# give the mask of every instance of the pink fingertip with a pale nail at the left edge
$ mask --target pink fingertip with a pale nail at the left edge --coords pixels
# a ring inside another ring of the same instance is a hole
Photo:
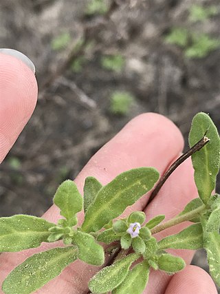
[[[0,49],[0,163],[36,105],[34,65],[21,52]]]

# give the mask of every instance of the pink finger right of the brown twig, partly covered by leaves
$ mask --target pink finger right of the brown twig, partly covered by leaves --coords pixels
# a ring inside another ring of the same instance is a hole
[[[146,208],[145,213],[147,220],[159,214],[165,214],[165,220],[169,220],[180,213],[186,204],[197,196],[193,173],[192,163],[190,158],[188,158],[188,160],[182,163],[173,172],[157,194],[157,197]],[[189,224],[190,222],[181,223],[175,227],[157,233],[155,237],[160,240],[166,235],[178,233]],[[189,250],[170,249],[168,251],[184,258],[187,264],[191,262],[194,254],[194,251]],[[170,278],[170,275],[167,275],[162,271],[152,271],[149,277],[146,293],[164,293],[164,288],[166,288],[166,284]]]

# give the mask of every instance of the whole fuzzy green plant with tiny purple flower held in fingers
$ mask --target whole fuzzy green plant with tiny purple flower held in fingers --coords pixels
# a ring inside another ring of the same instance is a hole
[[[207,114],[199,113],[193,118],[189,144],[190,149],[174,162],[169,174],[192,155],[198,197],[170,220],[164,221],[165,216],[159,215],[146,222],[143,211],[120,218],[126,207],[153,188],[151,197],[155,196],[168,178],[168,173],[159,178],[153,167],[125,171],[104,186],[96,178],[87,177],[83,197],[76,184],[66,180],[54,196],[54,204],[61,213],[56,224],[25,215],[0,218],[1,252],[36,248],[42,242],[63,242],[17,266],[5,278],[3,293],[33,293],[75,260],[103,266],[108,262],[104,261],[107,246],[100,242],[114,242],[111,246],[118,256],[91,278],[88,286],[92,293],[142,294],[151,269],[169,275],[184,269],[184,260],[167,249],[206,249],[210,274],[220,286],[220,196],[212,195],[219,173],[220,139]],[[78,224],[80,211],[85,213],[83,224]],[[186,221],[191,224],[179,233],[161,240],[154,237],[155,233]]]

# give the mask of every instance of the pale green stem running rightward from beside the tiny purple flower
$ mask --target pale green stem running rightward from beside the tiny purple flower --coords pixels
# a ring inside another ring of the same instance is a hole
[[[192,218],[195,218],[199,213],[206,210],[206,205],[202,204],[197,209],[194,209],[188,213],[184,213],[182,216],[176,216],[175,218],[172,218],[171,220],[168,220],[167,222],[164,222],[163,224],[158,224],[156,227],[151,229],[152,235],[155,233],[159,233],[160,231],[164,231],[170,227],[175,226],[176,224],[180,224],[181,222],[186,222],[187,220],[192,220]]]

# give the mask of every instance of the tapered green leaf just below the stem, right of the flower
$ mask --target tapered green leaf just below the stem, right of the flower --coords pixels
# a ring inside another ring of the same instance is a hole
[[[201,249],[203,248],[203,230],[201,224],[192,224],[175,235],[169,235],[158,242],[159,249]]]

